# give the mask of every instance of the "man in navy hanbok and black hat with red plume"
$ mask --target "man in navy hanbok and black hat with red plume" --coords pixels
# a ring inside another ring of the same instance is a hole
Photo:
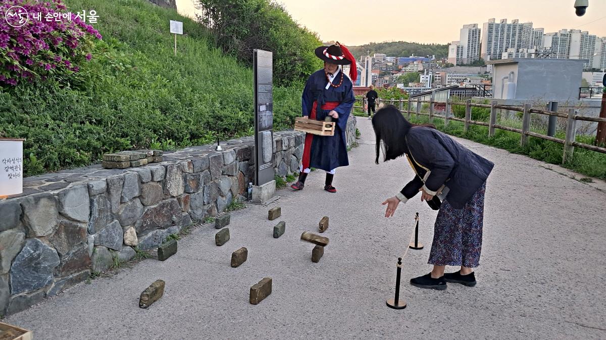
[[[316,56],[324,60],[324,68],[311,74],[302,96],[302,111],[305,119],[324,121],[327,116],[335,122],[334,136],[307,134],[302,164],[299,166],[299,180],[291,185],[302,190],[305,178],[311,168],[326,172],[324,190],[337,192],[333,186],[336,168],[349,165],[345,128],[351,108],[355,102],[353,83],[358,77],[356,59],[347,47],[335,45],[316,48]],[[349,76],[345,76],[339,65],[351,65]],[[351,78],[351,79],[350,79]]]

